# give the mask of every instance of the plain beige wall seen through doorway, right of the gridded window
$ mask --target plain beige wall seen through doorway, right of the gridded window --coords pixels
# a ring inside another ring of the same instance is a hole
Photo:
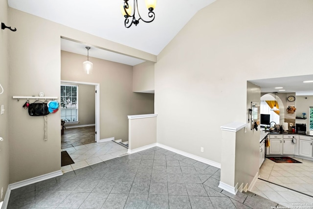
[[[62,63],[62,57],[61,57]],[[62,68],[61,68],[62,71]],[[78,120],[76,125],[89,125],[95,123],[95,86],[86,84],[78,85]],[[70,124],[67,125],[71,126]]]

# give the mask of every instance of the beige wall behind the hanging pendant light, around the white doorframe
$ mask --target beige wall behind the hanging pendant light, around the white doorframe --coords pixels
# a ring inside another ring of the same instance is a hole
[[[132,66],[90,57],[93,72],[86,75],[82,70],[86,56],[62,51],[61,58],[62,80],[100,84],[100,139],[127,141],[127,116],[154,112],[153,94],[132,91]]]

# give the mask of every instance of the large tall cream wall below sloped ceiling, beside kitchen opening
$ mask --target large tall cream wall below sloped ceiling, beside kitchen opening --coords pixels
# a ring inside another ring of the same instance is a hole
[[[312,8],[217,0],[201,9],[157,56],[157,142],[220,163],[220,127],[246,122],[247,80],[312,74]]]

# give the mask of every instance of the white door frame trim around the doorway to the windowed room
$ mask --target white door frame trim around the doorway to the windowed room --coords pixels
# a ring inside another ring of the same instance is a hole
[[[95,142],[100,142],[100,84],[99,83],[89,83],[89,82],[81,82],[81,81],[67,81],[61,80],[61,84],[69,84],[69,85],[89,85],[94,86],[95,96],[95,111],[94,111],[94,129],[95,129]]]

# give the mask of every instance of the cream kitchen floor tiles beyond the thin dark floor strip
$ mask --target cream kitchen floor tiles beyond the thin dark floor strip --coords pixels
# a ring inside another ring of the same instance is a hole
[[[313,161],[292,158],[302,163],[275,163],[266,158],[260,178],[313,196]]]

